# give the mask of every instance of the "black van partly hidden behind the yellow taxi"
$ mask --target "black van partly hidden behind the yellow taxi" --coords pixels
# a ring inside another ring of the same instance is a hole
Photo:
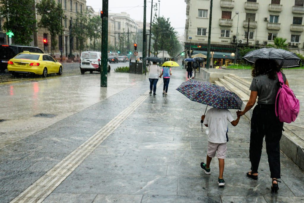
[[[43,54],[43,51],[38,47],[0,45],[0,72],[4,72],[5,69],[7,69],[7,62],[9,59],[14,58],[17,54],[23,51]]]

